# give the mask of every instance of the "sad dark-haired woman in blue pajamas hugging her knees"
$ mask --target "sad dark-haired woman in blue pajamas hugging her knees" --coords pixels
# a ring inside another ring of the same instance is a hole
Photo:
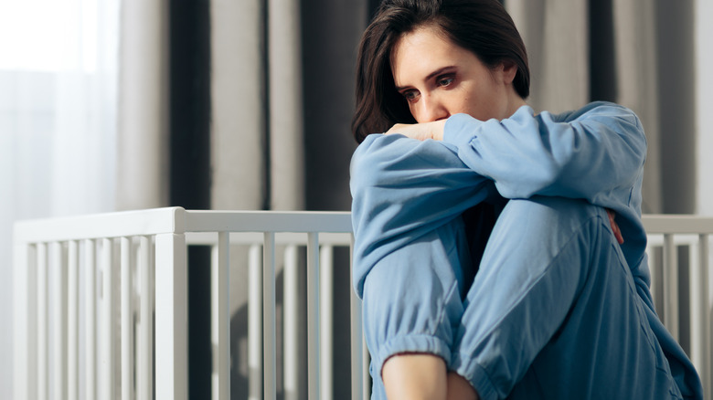
[[[536,114],[528,92],[496,0],[386,0],[367,27],[351,190],[372,398],[701,398],[648,289],[640,121]]]

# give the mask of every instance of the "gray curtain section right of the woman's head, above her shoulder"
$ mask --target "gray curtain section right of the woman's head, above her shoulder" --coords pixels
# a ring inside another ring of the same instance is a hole
[[[693,3],[506,0],[527,46],[536,110],[610,100],[648,141],[644,213],[696,212]]]

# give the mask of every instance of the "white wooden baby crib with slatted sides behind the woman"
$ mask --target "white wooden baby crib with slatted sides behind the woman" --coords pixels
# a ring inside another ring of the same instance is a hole
[[[706,398],[713,399],[708,273],[713,218],[644,216],[644,226],[650,234],[655,303],[666,327],[676,339],[685,339]],[[180,207],[16,224],[15,398],[186,399],[186,249],[208,245],[213,248],[212,394],[229,399],[231,244],[249,247],[249,398],[276,398],[278,248],[284,250],[285,299],[280,384],[285,399],[295,398],[298,344],[290,336],[296,323],[290,316],[296,312],[289,305],[296,301],[289,299],[297,290],[291,271],[298,248],[306,247],[308,396],[331,399],[335,367],[346,367],[332,365],[332,254],[335,247],[351,248],[349,214]],[[692,261],[686,265],[688,285],[679,282],[679,249],[689,249]],[[690,297],[679,296],[679,287],[688,288]],[[360,302],[351,287],[345,290],[351,293],[351,397],[367,399]],[[689,304],[688,318],[679,315],[680,298]]]

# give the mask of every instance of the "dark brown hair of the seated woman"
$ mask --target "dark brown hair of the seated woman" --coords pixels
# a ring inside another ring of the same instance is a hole
[[[391,50],[406,33],[433,24],[486,66],[508,61],[516,65],[513,86],[527,99],[530,70],[527,52],[515,23],[498,0],[384,0],[359,44],[357,111],[352,132],[357,142],[385,132],[395,123],[413,123],[409,105],[396,91],[391,75]]]

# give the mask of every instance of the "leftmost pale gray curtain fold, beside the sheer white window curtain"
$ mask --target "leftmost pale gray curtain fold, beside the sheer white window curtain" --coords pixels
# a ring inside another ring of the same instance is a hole
[[[168,205],[168,4],[122,0],[119,210]]]

